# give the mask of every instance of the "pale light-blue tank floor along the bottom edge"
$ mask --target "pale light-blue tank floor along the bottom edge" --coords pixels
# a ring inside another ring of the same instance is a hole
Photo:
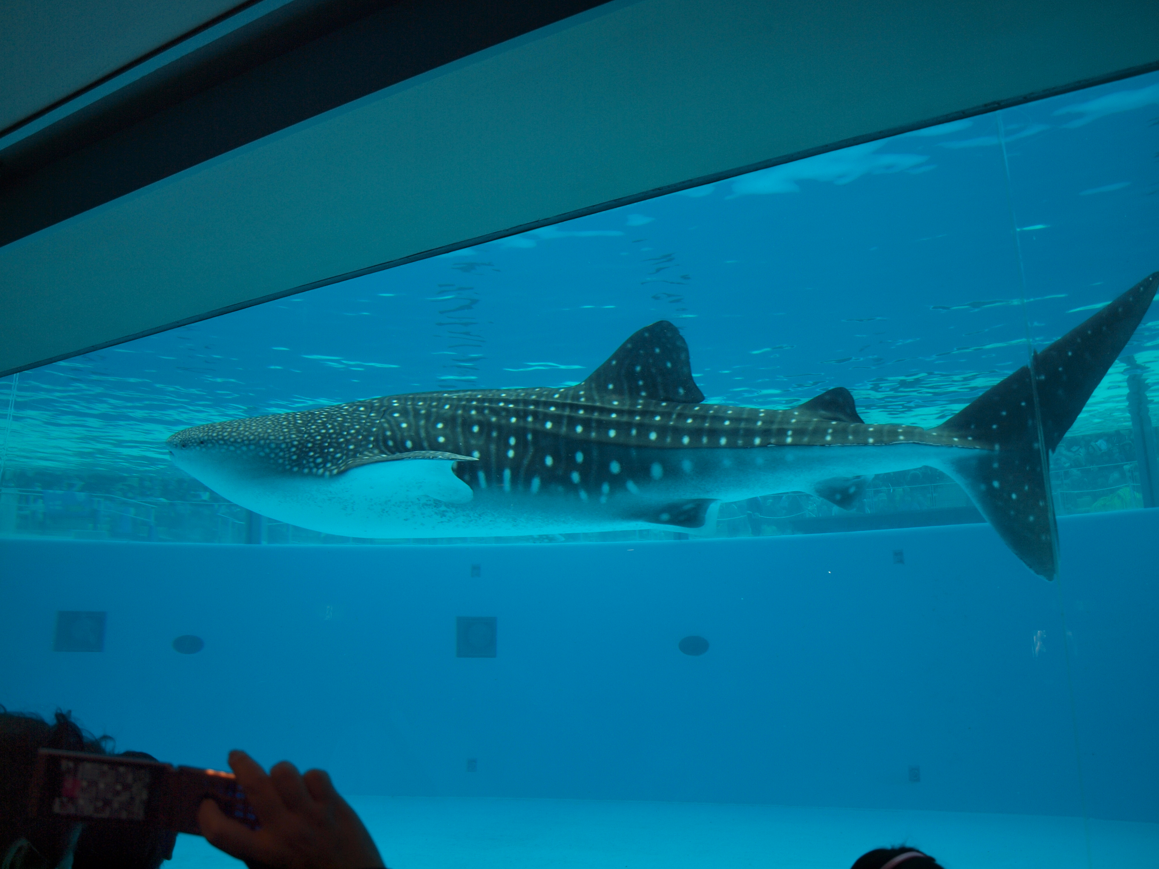
[[[362,796],[350,802],[387,866],[404,868],[841,869],[870,848],[901,842],[954,869],[1159,864],[1159,824],[1137,821],[596,799]],[[204,839],[182,835],[168,866],[240,863]]]

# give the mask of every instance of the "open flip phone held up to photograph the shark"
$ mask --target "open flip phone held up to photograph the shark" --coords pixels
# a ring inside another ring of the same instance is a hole
[[[146,824],[202,834],[197,809],[212,799],[226,817],[257,830],[257,815],[233,773],[115,754],[41,748],[29,795],[37,818],[85,824]]]

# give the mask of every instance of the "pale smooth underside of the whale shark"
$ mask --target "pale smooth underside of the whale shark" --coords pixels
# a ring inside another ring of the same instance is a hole
[[[710,504],[786,491],[812,491],[818,481],[870,476],[928,465],[968,451],[918,444],[876,447],[764,450],[603,450],[589,466],[620,468],[583,483],[540,484],[480,479],[462,462],[468,485],[449,460],[364,465],[330,477],[263,474],[198,476],[223,497],[256,513],[327,534],[356,538],[443,538],[566,534],[669,526],[710,531]],[[972,451],[970,451],[972,452]],[[684,507],[681,510],[681,507]],[[693,519],[692,517],[695,516]]]

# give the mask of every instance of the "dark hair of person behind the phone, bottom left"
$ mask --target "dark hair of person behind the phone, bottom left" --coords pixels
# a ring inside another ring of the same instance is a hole
[[[28,817],[29,789],[41,748],[105,753],[110,737],[94,737],[59,709],[49,724],[35,713],[0,706],[0,861],[24,840],[48,866],[57,866],[76,841],[80,825],[65,818]],[[23,846],[20,846],[23,847]]]

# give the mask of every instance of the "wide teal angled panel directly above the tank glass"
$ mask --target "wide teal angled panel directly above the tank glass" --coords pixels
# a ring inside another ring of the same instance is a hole
[[[613,2],[0,248],[0,372],[1154,68],[1132,0]]]

